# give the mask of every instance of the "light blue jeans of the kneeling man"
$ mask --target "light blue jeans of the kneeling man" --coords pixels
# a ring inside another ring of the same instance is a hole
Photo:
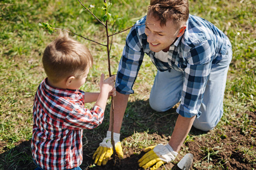
[[[200,117],[196,117],[193,126],[197,129],[208,131],[213,129],[223,115],[223,98],[226,86],[229,63],[232,59],[232,48],[222,55],[222,60],[210,70],[209,80],[204,92],[203,102],[199,111]],[[150,94],[150,106],[158,112],[164,112],[174,107],[181,99],[184,75],[174,69],[158,73]]]

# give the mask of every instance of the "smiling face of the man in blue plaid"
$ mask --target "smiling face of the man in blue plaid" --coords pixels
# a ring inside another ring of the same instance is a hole
[[[171,20],[167,20],[166,25],[161,27],[160,21],[148,14],[145,33],[150,50],[153,52],[160,52],[160,50],[167,52],[176,38],[183,35],[184,31],[180,35],[180,29]]]

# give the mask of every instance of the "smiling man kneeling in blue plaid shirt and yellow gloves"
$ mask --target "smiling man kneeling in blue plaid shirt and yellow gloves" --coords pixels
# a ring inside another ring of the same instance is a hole
[[[117,73],[114,141],[121,158],[122,118],[144,53],[158,69],[150,94],[152,109],[164,112],[180,102],[170,141],[146,148],[147,153],[138,161],[140,167],[155,164],[152,169],[157,169],[175,159],[192,125],[208,131],[220,121],[232,48],[220,29],[189,14],[187,0],[151,0],[147,16],[127,36]],[[97,165],[106,164],[112,155],[110,131],[93,155]]]

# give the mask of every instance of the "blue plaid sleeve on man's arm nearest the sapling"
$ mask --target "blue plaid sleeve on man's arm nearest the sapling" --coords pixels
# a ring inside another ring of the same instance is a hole
[[[136,27],[131,28],[126,37],[126,45],[119,62],[116,80],[116,90],[121,94],[133,94],[133,84],[144,57],[142,42]]]

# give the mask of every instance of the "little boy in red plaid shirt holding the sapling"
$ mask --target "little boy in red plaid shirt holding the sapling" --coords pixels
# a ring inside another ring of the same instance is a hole
[[[100,125],[108,96],[115,95],[112,76],[101,75],[100,93],[79,90],[92,67],[89,50],[60,33],[43,54],[47,78],[36,91],[31,150],[36,169],[81,169],[82,129]],[[84,103],[96,101],[89,110]]]

